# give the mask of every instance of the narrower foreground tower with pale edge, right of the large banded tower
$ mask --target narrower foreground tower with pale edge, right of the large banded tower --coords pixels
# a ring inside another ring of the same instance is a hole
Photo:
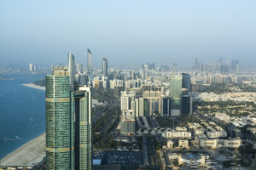
[[[92,127],[90,88],[75,92],[75,169],[92,169]]]

